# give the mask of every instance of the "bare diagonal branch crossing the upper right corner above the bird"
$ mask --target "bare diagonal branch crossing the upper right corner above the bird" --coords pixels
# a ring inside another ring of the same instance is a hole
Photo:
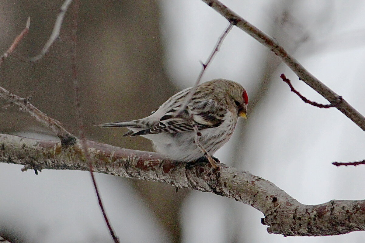
[[[354,107],[341,99],[338,103],[340,96],[336,94],[329,87],[324,85],[319,79],[314,77],[306,68],[304,68],[293,56],[287,53],[285,49],[280,46],[280,44],[271,36],[266,35],[264,32],[247,22],[237,13],[233,12],[231,9],[227,8],[218,0],[202,0],[215,11],[220,13],[225,17],[230,23],[235,23],[235,25],[241,30],[245,31],[247,34],[252,36],[255,40],[263,44],[265,47],[273,51],[287,66],[295,72],[300,80],[305,82],[307,85],[312,87],[325,99],[327,99],[331,104],[336,105],[336,108],[345,114],[351,121],[355,122],[362,130],[365,131],[365,117],[361,115]]]

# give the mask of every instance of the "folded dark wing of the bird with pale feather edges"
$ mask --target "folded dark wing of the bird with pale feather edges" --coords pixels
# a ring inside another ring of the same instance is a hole
[[[200,104],[201,107],[198,107],[200,109],[189,109],[199,130],[206,128],[215,128],[223,122],[223,114],[216,113],[216,110],[214,109],[207,109],[210,108],[212,102],[214,101],[208,100],[205,103],[205,106],[202,106]],[[138,131],[131,134],[131,136],[193,131],[194,129],[190,122],[180,117],[174,117],[174,112],[177,109],[178,107],[168,111],[163,117],[160,118],[160,122],[158,122],[151,128]]]

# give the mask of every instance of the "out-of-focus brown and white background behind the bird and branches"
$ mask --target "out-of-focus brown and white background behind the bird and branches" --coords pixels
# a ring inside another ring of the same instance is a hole
[[[276,38],[312,74],[365,114],[365,2],[361,0],[224,0]],[[34,56],[49,38],[63,1],[0,1],[0,52],[31,18],[17,51]],[[70,68],[72,6],[60,41],[35,63],[13,56],[0,86],[77,134]],[[190,87],[228,22],[200,0],[81,1],[77,68],[89,140],[152,150],[123,129],[92,125],[142,118]],[[272,181],[305,204],[364,199],[365,166],[333,161],[365,158],[365,134],[336,109],[303,103],[279,78],[285,73],[311,100],[327,103],[257,41],[234,27],[203,80],[226,78],[249,93],[249,119],[215,156]],[[0,101],[0,105],[4,105]],[[57,139],[18,107],[0,110],[0,133]],[[21,172],[0,163],[0,235],[23,243],[112,242],[88,172]],[[364,242],[364,232],[341,236],[270,235],[262,213],[232,199],[170,185],[96,175],[105,209],[121,242],[246,243]]]

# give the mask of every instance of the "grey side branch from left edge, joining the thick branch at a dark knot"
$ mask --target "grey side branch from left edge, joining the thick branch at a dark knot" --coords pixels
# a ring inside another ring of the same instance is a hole
[[[59,121],[48,117],[45,113],[38,110],[34,105],[29,103],[28,98],[19,97],[18,95],[10,93],[3,87],[0,87],[0,96],[3,97],[6,101],[20,106],[21,111],[27,111],[37,121],[51,128],[61,140],[62,145],[67,146],[76,143],[77,139],[75,136],[67,132],[66,129],[62,127],[61,123],[59,123]]]

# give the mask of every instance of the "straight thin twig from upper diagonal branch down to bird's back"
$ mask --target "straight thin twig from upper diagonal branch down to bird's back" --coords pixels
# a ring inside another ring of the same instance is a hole
[[[195,93],[196,87],[199,85],[201,78],[203,77],[203,74],[205,72],[205,70],[207,69],[207,67],[209,66],[209,64],[212,62],[215,54],[219,51],[220,46],[222,46],[223,40],[224,38],[226,38],[226,36],[228,35],[228,33],[230,32],[230,30],[232,29],[232,27],[234,26],[233,23],[230,23],[228,25],[228,27],[226,28],[226,30],[224,30],[223,34],[220,36],[220,38],[218,39],[217,44],[215,45],[212,53],[210,54],[210,56],[208,57],[207,62],[205,63],[201,63],[201,65],[203,66],[203,68],[200,71],[200,74],[195,82],[195,85],[192,87],[192,89],[189,91],[188,95],[185,97],[183,104],[180,106],[180,108],[176,111],[176,114],[181,114],[183,112],[183,110],[185,110],[188,106],[188,103],[191,101],[193,94]]]

